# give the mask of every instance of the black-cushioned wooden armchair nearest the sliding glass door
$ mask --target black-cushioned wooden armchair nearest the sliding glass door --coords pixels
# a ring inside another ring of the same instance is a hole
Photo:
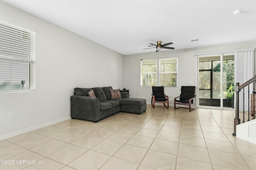
[[[180,96],[174,98],[174,109],[178,109],[180,107],[176,107],[176,104],[186,105],[188,106],[189,111],[194,111],[196,109],[191,109],[191,104],[193,104],[193,98],[196,98],[195,95],[195,86],[181,86]],[[180,100],[176,100],[180,98]]]

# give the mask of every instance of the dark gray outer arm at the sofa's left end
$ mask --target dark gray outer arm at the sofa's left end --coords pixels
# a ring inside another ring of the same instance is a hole
[[[100,119],[100,100],[88,96],[71,96],[71,117],[98,121]]]

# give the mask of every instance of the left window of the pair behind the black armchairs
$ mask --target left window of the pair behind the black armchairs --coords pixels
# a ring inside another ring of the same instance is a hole
[[[156,86],[157,60],[141,61],[141,86]]]

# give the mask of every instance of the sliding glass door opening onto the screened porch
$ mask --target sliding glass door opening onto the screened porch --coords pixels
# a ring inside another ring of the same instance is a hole
[[[199,57],[198,87],[199,106],[232,107],[234,55]]]

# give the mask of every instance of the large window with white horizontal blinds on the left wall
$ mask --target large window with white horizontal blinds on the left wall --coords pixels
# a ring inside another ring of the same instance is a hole
[[[0,91],[35,89],[35,33],[0,22]]]

